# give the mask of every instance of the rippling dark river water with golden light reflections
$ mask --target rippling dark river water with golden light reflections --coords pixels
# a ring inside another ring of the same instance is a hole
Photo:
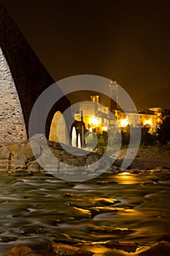
[[[169,171],[104,173],[82,183],[0,173],[0,255],[20,243],[51,255],[53,236],[84,241],[95,256],[126,255],[97,242],[170,241],[169,185]]]

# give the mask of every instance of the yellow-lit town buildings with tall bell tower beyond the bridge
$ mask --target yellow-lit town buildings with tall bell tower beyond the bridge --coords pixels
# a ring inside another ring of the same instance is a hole
[[[154,128],[161,124],[161,108],[149,108],[139,111],[139,113],[133,113],[130,110],[123,112],[118,105],[118,86],[115,78],[110,81],[109,88],[110,99],[114,99],[111,99],[110,107],[101,105],[98,95],[91,95],[90,101],[80,103],[80,112],[75,113],[74,118],[80,121],[80,113],[82,113],[86,129],[94,132],[109,132],[111,127],[117,126],[125,128],[128,125],[131,127],[141,125]]]

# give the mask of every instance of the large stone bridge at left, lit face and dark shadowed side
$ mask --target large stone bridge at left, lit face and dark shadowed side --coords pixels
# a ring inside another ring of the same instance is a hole
[[[29,117],[34,103],[42,91],[53,83],[55,81],[0,0],[0,141],[20,141],[28,138]],[[50,131],[53,133],[51,123],[53,127],[56,113],[64,113],[69,106],[70,102],[64,95],[53,105],[45,125],[47,139],[53,137],[50,135]],[[41,115],[40,112],[39,118]],[[63,131],[69,129],[69,116],[63,116],[60,124]],[[39,127],[36,127],[32,135],[42,133]],[[67,139],[64,136],[62,138],[63,142]]]

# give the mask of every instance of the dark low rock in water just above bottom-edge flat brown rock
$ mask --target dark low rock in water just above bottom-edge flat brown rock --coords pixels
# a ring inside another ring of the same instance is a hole
[[[53,235],[53,236],[46,236],[45,240],[47,241],[54,241],[55,243],[61,243],[61,244],[82,244],[83,241],[77,238],[72,238],[68,235]]]

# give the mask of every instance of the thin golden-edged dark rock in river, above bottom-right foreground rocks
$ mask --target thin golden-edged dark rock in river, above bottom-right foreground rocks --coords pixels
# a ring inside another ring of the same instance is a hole
[[[136,230],[131,230],[128,228],[108,228],[108,227],[100,227],[100,228],[92,228],[91,232],[96,234],[113,234],[113,235],[128,235],[136,232]]]

